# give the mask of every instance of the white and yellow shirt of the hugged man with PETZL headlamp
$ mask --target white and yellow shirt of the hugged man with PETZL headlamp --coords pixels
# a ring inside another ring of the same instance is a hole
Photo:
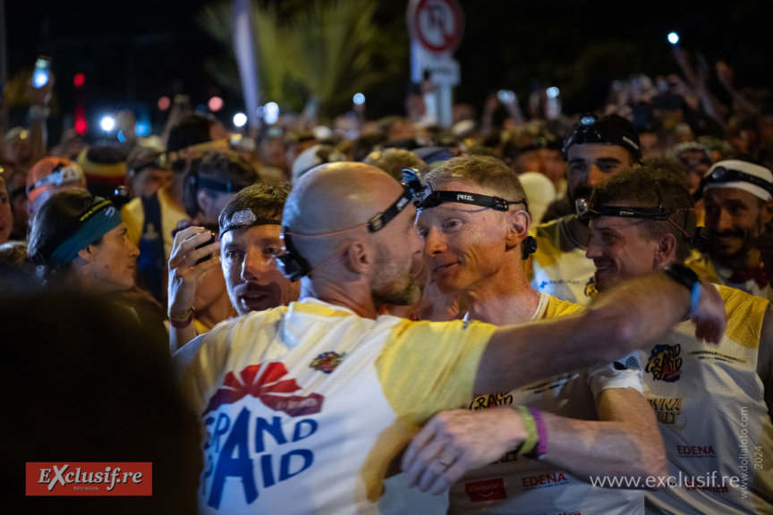
[[[580,309],[582,306],[543,293],[531,320],[564,317]],[[476,395],[468,407],[522,404],[561,417],[598,420],[596,395],[607,388],[627,387],[641,392],[641,366],[635,353],[614,364],[562,374],[512,392]],[[515,452],[467,473],[451,486],[449,499],[448,512],[454,515],[644,512],[642,491],[594,487],[548,463]]]

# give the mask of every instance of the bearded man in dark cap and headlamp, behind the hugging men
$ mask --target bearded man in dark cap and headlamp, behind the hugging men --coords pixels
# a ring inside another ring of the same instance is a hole
[[[583,116],[564,144],[568,161],[566,195],[572,207],[590,197],[599,182],[639,165],[639,135],[631,122],[616,114]],[[592,291],[593,263],[585,258],[590,230],[575,215],[531,229],[537,251],[531,257],[531,286],[561,300],[586,304]]]

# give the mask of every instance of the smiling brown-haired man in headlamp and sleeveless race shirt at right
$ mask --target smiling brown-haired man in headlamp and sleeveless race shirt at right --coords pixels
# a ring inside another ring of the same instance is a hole
[[[730,191],[707,193],[723,190]],[[694,241],[695,212],[674,176],[650,168],[620,173],[593,190],[586,215],[599,300],[652,270],[681,269],[685,283],[697,279],[675,265]],[[768,300],[718,291],[727,313],[718,345],[692,337],[685,321],[641,353],[644,395],[668,458],[669,486],[647,493],[651,514],[773,513],[773,460],[765,458],[773,453],[773,316]]]

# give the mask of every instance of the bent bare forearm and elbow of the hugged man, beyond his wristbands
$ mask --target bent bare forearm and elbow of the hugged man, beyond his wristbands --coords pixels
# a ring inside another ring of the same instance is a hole
[[[543,411],[548,444],[542,460],[591,484],[608,477],[622,479],[619,487],[633,487],[635,478],[640,488],[662,486],[654,478],[668,475],[666,450],[647,399],[633,388],[610,388],[599,393],[597,410],[599,420]]]

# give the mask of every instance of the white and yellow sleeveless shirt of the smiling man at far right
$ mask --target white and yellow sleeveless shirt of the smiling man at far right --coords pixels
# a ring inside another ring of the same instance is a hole
[[[641,353],[675,484],[647,493],[648,513],[773,513],[773,425],[757,372],[769,303],[717,288],[727,313],[717,345],[685,321]]]

